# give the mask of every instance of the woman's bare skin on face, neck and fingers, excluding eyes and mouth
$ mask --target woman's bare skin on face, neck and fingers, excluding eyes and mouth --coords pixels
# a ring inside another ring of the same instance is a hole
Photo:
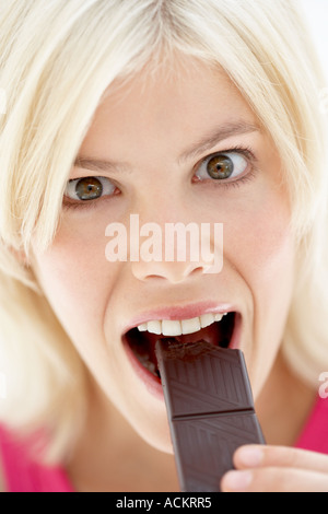
[[[295,247],[279,154],[222,71],[187,65],[174,77],[162,70],[151,79],[144,70],[109,89],[79,154],[115,165],[102,173],[75,166],[70,178],[107,177],[115,194],[82,208],[66,198],[54,243],[46,253],[34,252],[43,290],[90,372],[89,417],[68,466],[79,490],[177,490],[163,399],[144,387],[121,343],[127,320],[151,308],[204,299],[237,305],[239,348],[269,443],[292,444],[313,402],[314,392],[291,375],[280,355]],[[180,159],[233,122],[258,129]],[[235,147],[251,149],[256,161],[246,159],[246,171],[230,186],[199,176],[208,155]],[[222,222],[223,270],[209,274],[204,262],[108,262],[105,229],[113,221],[129,226],[131,213],[139,213],[140,225],[161,227],[169,221]],[[328,472],[326,457],[276,446],[261,452],[256,460],[248,448],[247,460],[239,448],[237,470],[224,477],[223,490],[321,488],[316,479]]]

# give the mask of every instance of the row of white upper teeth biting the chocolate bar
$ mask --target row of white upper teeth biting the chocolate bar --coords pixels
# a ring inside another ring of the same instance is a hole
[[[197,332],[201,328],[206,328],[214,322],[221,322],[223,314],[202,314],[191,319],[152,319],[138,326],[138,330],[148,330],[151,334],[163,336],[181,336],[183,334]]]

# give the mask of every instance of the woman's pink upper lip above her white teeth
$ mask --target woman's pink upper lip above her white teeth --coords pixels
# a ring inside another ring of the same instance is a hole
[[[191,319],[202,314],[224,314],[235,312],[236,308],[227,302],[216,303],[200,302],[188,305],[171,305],[162,308],[150,309],[134,316],[124,328],[124,334],[127,334],[130,329],[136,328],[142,323],[151,322],[153,319]]]

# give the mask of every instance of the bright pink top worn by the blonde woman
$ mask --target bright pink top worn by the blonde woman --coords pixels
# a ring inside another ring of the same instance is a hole
[[[328,399],[317,399],[295,446],[328,454]],[[63,469],[33,462],[28,445],[1,428],[0,456],[9,492],[74,492]]]

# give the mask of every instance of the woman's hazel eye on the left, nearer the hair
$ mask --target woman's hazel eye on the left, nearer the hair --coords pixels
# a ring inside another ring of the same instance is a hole
[[[113,195],[116,186],[105,177],[74,178],[68,182],[65,196],[71,200],[96,200],[105,195]]]

